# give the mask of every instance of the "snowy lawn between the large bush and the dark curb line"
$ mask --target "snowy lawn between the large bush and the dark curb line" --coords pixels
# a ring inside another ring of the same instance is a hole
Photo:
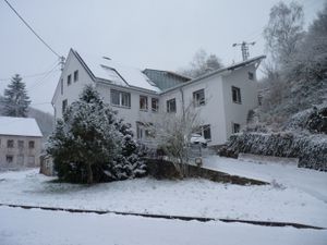
[[[150,177],[92,186],[51,183],[38,170],[0,173],[0,203],[298,222],[327,228],[327,204],[295,187]]]

